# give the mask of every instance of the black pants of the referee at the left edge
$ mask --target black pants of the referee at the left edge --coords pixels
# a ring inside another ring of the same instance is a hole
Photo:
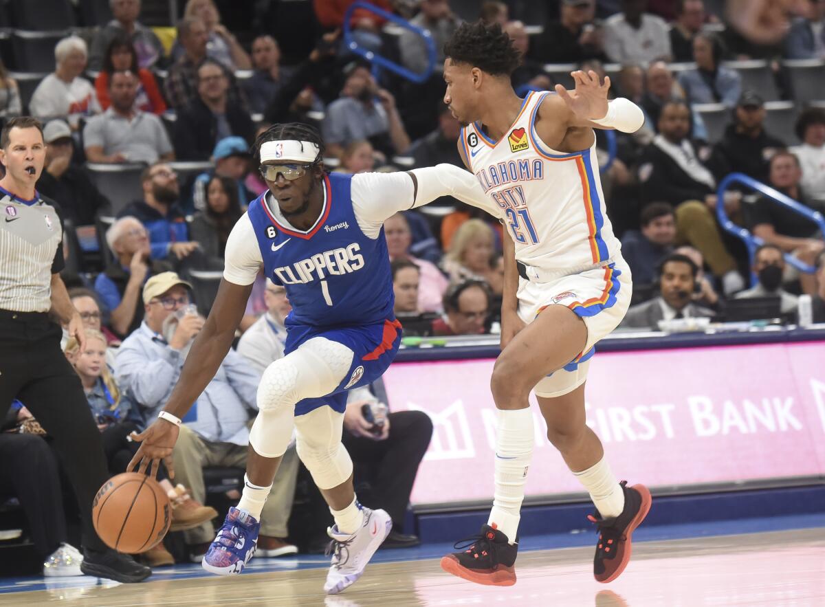
[[[52,437],[78,497],[82,544],[104,550],[92,501],[109,478],[106,456],[80,378],[60,350],[62,333],[45,313],[0,310],[0,407],[17,398]]]

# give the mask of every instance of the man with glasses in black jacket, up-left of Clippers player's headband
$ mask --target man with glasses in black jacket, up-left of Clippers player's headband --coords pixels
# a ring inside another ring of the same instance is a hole
[[[196,85],[198,96],[177,115],[177,158],[209,160],[209,150],[231,135],[248,144],[255,125],[245,108],[232,103],[224,68],[213,59],[204,59],[197,68]]]

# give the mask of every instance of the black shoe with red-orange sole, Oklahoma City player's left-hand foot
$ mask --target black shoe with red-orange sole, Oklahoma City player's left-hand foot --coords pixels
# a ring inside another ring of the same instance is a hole
[[[455,548],[460,552],[441,559],[441,569],[447,573],[486,586],[516,583],[518,542],[508,543],[507,535],[495,526],[482,525],[479,535],[456,542]]]

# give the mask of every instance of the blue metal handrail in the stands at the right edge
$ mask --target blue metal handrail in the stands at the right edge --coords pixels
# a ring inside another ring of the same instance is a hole
[[[813,209],[808,209],[807,206],[800,204],[789,195],[785,195],[780,191],[775,190],[771,186],[766,186],[761,181],[757,181],[752,177],[745,175],[744,173],[731,173],[728,176],[725,176],[722,181],[719,182],[719,186],[716,188],[716,196],[718,198],[716,202],[716,217],[719,219],[719,225],[725,230],[725,232],[733,234],[733,236],[742,240],[745,243],[745,247],[747,247],[747,255],[750,257],[751,266],[753,266],[753,256],[757,250],[759,245],[764,244],[764,241],[754,236],[752,233],[748,232],[747,229],[734,224],[733,221],[728,217],[728,213],[724,209],[724,193],[728,191],[728,188],[733,183],[740,183],[742,186],[747,186],[751,190],[755,190],[759,192],[761,195],[765,196],[768,200],[772,200],[777,205],[784,205],[785,207],[795,211],[796,213],[802,215],[803,217],[810,219],[814,224],[819,226],[819,229],[825,233],[825,218],[823,218],[823,214],[819,211],[815,211]],[[796,257],[785,253],[785,261],[789,263],[791,266],[797,268],[800,272],[805,272],[806,274],[813,274],[816,271],[816,268],[813,266],[808,266],[807,263],[804,261],[799,261]],[[757,284],[757,275],[751,273],[751,285]]]

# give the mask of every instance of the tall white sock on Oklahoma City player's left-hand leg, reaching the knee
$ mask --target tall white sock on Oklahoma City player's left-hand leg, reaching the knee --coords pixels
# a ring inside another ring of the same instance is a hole
[[[493,494],[493,510],[490,511],[487,524],[495,525],[507,535],[510,543],[516,543],[527,467],[530,466],[534,444],[533,412],[530,407],[514,411],[499,409],[496,490]]]

